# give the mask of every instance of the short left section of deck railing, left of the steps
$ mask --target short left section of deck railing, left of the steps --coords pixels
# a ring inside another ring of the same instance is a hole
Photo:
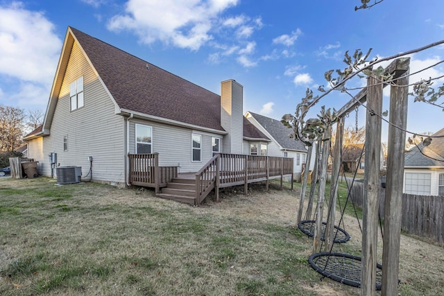
[[[173,177],[178,176],[177,166],[159,166],[159,153],[153,154],[129,154],[130,162],[129,182],[132,185],[155,188],[155,193],[160,192],[160,187],[167,186]]]

